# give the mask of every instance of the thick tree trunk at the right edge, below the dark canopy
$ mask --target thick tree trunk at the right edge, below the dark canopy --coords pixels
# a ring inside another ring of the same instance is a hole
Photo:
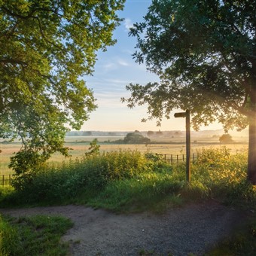
[[[256,184],[256,114],[249,119],[248,181]]]

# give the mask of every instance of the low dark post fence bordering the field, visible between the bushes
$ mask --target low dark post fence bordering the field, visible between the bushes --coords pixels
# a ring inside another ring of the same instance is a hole
[[[171,165],[186,162],[186,154],[156,154],[160,156],[166,163]],[[199,157],[198,153],[193,153],[190,156],[191,162],[194,162]],[[0,186],[6,186],[11,184],[11,180],[14,178],[14,174],[0,175]]]

